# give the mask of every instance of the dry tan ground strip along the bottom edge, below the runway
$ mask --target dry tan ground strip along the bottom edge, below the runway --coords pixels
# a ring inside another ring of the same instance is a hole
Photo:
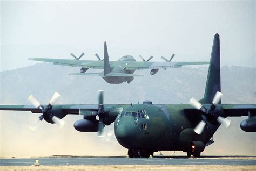
[[[256,166],[220,166],[220,165],[79,165],[79,166],[0,166],[5,170],[256,170]]]

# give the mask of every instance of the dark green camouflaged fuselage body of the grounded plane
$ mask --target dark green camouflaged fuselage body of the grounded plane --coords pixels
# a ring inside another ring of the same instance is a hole
[[[208,124],[201,135],[193,131],[200,122],[199,112],[191,113],[184,109],[190,104],[134,104],[124,108],[123,112],[145,111],[149,118],[117,116],[114,131],[118,142],[128,149],[145,151],[182,150],[191,147],[192,141],[210,140],[219,124]],[[135,113],[134,113],[135,115]],[[146,127],[145,127],[146,125]]]

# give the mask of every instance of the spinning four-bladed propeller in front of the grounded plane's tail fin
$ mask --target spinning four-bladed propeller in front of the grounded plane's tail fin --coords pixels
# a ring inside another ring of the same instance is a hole
[[[216,104],[220,102],[222,96],[223,94],[217,91],[215,96],[213,97],[212,104],[209,109],[205,108],[200,102],[197,101],[196,98],[192,97],[190,99],[190,104],[194,108],[200,110],[205,116],[203,117],[203,120],[201,120],[199,124],[194,128],[194,132],[196,132],[197,134],[201,134],[205,128],[206,121],[211,123],[212,121],[216,120],[218,123],[223,124],[225,127],[228,127],[228,125],[230,125],[229,119],[218,116],[216,111],[214,111],[216,108]]]

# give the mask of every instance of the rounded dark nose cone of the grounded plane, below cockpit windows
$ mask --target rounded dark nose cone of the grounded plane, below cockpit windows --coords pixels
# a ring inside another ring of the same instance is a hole
[[[131,145],[136,139],[136,129],[134,125],[131,124],[120,124],[116,128],[116,138],[120,144],[125,146]]]

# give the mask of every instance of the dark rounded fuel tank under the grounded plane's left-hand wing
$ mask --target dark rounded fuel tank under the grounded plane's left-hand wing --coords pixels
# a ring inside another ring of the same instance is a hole
[[[80,132],[97,132],[99,120],[80,119],[74,123],[74,127]]]

